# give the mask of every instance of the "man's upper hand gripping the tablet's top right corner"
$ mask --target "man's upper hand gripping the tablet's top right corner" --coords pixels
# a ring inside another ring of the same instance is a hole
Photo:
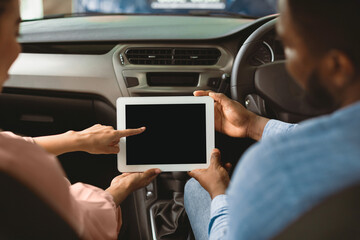
[[[194,96],[210,96],[215,101],[215,129],[231,137],[251,137],[260,140],[267,118],[248,111],[239,102],[222,93],[195,91]]]

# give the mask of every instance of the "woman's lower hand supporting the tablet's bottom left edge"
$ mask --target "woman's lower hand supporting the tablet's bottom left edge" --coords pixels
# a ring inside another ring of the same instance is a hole
[[[115,177],[105,191],[110,193],[118,206],[133,191],[150,184],[160,173],[160,169],[149,169],[143,173],[123,173]]]

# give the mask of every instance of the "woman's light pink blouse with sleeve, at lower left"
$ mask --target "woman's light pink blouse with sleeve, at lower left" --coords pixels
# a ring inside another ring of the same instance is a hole
[[[1,132],[0,170],[43,198],[82,239],[117,239],[121,211],[112,196],[87,184],[71,185],[56,157],[38,145]]]

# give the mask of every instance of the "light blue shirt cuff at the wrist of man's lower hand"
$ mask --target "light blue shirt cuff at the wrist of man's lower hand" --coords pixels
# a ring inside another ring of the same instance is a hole
[[[228,229],[227,195],[218,195],[211,202],[209,239],[224,239]]]

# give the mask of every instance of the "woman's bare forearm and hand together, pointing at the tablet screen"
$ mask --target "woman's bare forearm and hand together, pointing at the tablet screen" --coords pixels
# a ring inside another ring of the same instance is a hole
[[[119,152],[119,141],[145,131],[137,129],[114,130],[111,126],[96,124],[83,131],[68,131],[63,134],[33,138],[46,151],[60,155],[67,152],[84,151],[92,154],[115,154]]]

